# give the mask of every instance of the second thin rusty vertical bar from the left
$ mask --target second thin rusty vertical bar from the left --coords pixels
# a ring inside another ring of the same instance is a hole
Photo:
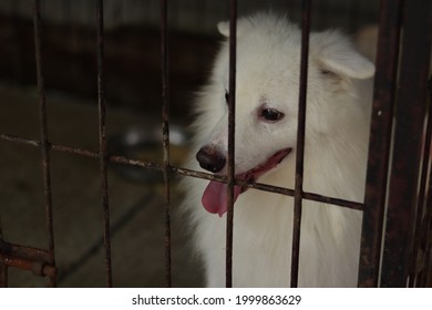
[[[106,110],[105,110],[105,72],[104,72],[104,32],[103,32],[103,0],[96,2],[97,32],[97,105],[99,105],[99,158],[101,173],[103,236],[105,247],[106,287],[113,286],[111,262],[110,206],[107,192],[107,153],[106,153]]]

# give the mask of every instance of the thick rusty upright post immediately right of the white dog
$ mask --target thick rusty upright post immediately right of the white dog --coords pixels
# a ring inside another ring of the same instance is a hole
[[[403,1],[382,0],[359,262],[359,287],[377,287]]]

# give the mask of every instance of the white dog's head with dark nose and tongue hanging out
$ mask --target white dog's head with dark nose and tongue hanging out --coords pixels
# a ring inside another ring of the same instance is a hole
[[[218,30],[229,37],[228,22]],[[237,23],[235,174],[251,180],[292,159],[297,141],[300,30],[286,19],[256,14]],[[228,43],[217,55],[209,85],[199,100],[199,165],[212,173],[226,174],[228,149]],[[337,31],[310,34],[307,136],[310,143],[333,131],[344,106],[358,105],[356,81],[373,75],[374,68],[357,53]],[[361,107],[350,107],[356,111]],[[357,113],[357,112],[353,112]],[[342,122],[352,122],[352,117]],[[353,124],[350,124],[353,125]],[[226,210],[226,187],[212,182],[203,197],[207,210]],[[235,197],[243,192],[235,188]]]

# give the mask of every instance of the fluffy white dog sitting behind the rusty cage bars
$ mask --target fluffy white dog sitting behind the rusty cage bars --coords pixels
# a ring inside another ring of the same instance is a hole
[[[228,37],[228,22],[218,24]],[[244,180],[295,187],[300,30],[258,13],[238,20],[235,173]],[[362,202],[374,66],[338,31],[310,34],[304,188]],[[226,174],[228,43],[198,95],[196,159]],[[199,166],[198,166],[199,164]],[[187,178],[185,207],[204,262],[206,285],[225,286],[226,192],[217,182]],[[292,197],[235,187],[235,287],[288,287]],[[357,286],[362,214],[304,200],[300,287]]]

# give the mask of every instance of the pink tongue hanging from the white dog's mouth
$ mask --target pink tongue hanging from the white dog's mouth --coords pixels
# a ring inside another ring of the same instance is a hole
[[[234,186],[234,202],[241,193],[241,186]],[[224,183],[210,180],[204,190],[203,205],[212,214],[223,216],[227,210],[227,185]]]

